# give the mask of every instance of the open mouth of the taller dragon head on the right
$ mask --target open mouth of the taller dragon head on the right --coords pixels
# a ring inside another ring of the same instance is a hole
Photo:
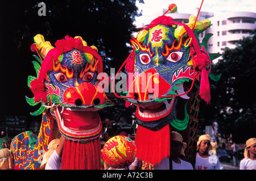
[[[166,117],[174,106],[175,99],[162,102],[134,103],[137,106],[135,115],[143,121],[154,121]]]

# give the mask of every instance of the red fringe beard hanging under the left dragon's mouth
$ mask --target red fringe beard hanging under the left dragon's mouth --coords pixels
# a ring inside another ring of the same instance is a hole
[[[86,144],[65,140],[61,170],[100,170],[100,138]]]

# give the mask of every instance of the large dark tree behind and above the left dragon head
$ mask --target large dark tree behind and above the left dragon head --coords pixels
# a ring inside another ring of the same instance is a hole
[[[129,55],[126,44],[135,31],[135,16],[140,15],[136,2],[143,0],[46,0],[46,16],[39,2],[1,2],[1,119],[5,115],[34,119],[29,115],[33,108],[26,103],[25,96],[32,97],[27,77],[35,75],[30,46],[36,34],[42,34],[53,46],[66,35],[83,37],[88,45],[98,48],[104,71],[109,73],[110,68],[119,68]]]

